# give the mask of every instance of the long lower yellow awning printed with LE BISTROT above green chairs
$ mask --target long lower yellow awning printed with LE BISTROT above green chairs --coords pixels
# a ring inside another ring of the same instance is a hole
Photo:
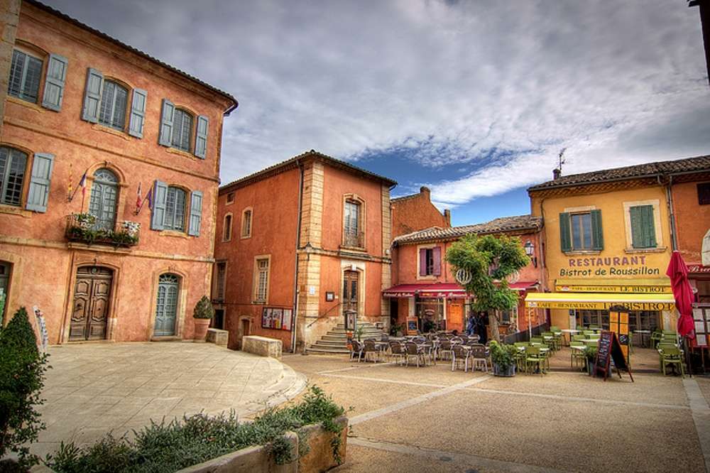
[[[542,309],[674,310],[672,294],[528,293],[525,306]]]

